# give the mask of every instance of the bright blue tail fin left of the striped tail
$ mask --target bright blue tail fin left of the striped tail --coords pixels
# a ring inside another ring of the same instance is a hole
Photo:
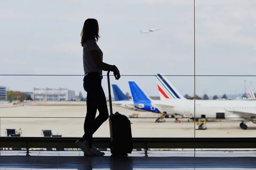
[[[134,103],[151,102],[151,99],[139,88],[135,82],[129,82]]]

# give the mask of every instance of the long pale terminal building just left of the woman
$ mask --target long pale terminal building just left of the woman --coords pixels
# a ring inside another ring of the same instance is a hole
[[[73,101],[76,99],[75,91],[67,88],[34,88],[35,101]]]

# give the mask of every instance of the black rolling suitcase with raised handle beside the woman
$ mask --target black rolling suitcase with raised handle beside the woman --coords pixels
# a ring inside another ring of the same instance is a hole
[[[108,95],[109,95],[109,125],[110,125],[110,143],[111,153],[114,156],[128,156],[133,150],[133,141],[131,135],[131,122],[127,116],[118,112],[113,114],[110,79],[108,71]]]

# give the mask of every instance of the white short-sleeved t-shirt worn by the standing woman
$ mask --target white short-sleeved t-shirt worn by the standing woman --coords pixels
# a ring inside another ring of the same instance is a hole
[[[96,40],[87,40],[87,42],[84,43],[84,48],[83,48],[84,74],[87,74],[90,72],[98,72],[100,75],[102,75],[102,69],[96,65],[96,63],[94,62],[93,56],[90,53],[91,50],[95,50],[95,49],[99,51],[99,57],[102,60],[103,52],[97,45]]]

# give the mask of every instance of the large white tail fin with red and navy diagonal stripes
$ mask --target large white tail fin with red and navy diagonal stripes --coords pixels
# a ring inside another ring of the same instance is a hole
[[[160,99],[186,99],[163,74],[155,74]]]

